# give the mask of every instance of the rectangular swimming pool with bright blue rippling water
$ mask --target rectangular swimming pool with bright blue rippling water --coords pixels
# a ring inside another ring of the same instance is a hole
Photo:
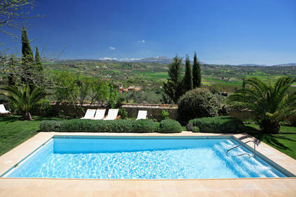
[[[94,179],[293,176],[233,136],[54,136],[3,177]],[[252,155],[240,155],[244,152]]]

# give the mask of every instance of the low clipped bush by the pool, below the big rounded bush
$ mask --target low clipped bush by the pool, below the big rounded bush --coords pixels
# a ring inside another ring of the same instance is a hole
[[[241,133],[244,132],[244,123],[231,116],[195,118],[189,121],[187,129],[193,132]]]

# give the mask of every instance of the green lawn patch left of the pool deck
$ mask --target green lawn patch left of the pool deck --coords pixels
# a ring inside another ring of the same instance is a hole
[[[38,134],[37,131],[42,120],[57,120],[57,118],[41,118],[38,116],[34,116],[32,121],[24,121],[20,118],[20,116],[0,118],[0,155]]]

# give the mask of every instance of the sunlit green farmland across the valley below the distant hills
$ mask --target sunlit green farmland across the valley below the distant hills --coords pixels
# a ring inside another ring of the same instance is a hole
[[[142,86],[160,90],[163,81],[168,79],[168,64],[162,63],[126,63],[126,62],[61,62],[44,63],[45,72],[69,70],[80,72],[89,77],[98,77],[118,86]],[[235,66],[207,65],[201,66],[202,84],[224,84],[240,86],[244,77],[258,77],[264,81],[275,81],[279,77],[296,77],[295,66]],[[296,85],[296,84],[295,84]]]

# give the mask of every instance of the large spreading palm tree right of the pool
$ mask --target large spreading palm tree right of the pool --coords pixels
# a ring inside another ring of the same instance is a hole
[[[295,113],[296,92],[287,90],[296,79],[281,77],[275,84],[266,84],[256,77],[244,79],[242,88],[228,97],[235,107],[250,109],[257,116],[262,132],[279,132],[279,121]]]

